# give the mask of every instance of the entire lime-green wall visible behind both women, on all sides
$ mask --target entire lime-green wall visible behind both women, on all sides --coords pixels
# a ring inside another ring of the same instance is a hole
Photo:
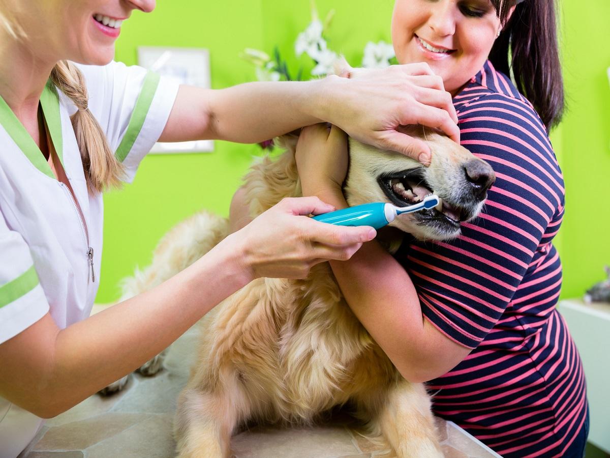
[[[367,41],[389,42],[392,0],[318,0],[321,18],[336,10],[329,46],[353,65]],[[605,198],[610,175],[610,2],[565,2],[565,76],[570,111],[553,144],[567,181],[567,211],[557,238],[564,260],[564,296],[579,296],[602,277],[610,263],[610,216],[588,195]],[[136,63],[137,46],[185,46],[210,50],[212,87],[254,79],[253,68],[239,58],[243,48],[271,52],[278,45],[296,65],[293,42],[310,20],[309,0],[225,2],[160,1],[151,14],[135,12],[122,27],[117,60]],[[586,33],[583,31],[586,30]],[[598,43],[592,46],[592,43]],[[306,57],[301,62],[306,63]],[[232,192],[253,156],[255,145],[215,142],[213,153],[154,154],[142,162],[133,184],[105,197],[102,283],[97,301],[118,297],[118,282],[134,267],[146,266],[159,238],[176,222],[207,208],[228,214]],[[595,242],[600,239],[601,242]]]

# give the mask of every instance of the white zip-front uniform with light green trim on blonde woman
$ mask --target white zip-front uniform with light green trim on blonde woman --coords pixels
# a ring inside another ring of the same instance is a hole
[[[178,84],[117,62],[79,68],[89,109],[131,181],[167,123]],[[70,122],[76,107],[50,84],[40,103],[74,196],[0,97],[0,343],[48,311],[60,329],[87,318],[99,285],[102,196],[87,192]],[[0,398],[0,458],[17,456],[42,423]]]

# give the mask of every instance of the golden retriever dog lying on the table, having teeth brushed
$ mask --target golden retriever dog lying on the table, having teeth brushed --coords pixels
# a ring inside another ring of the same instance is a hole
[[[457,236],[479,213],[493,183],[484,161],[445,136],[420,126],[408,133],[428,142],[429,167],[350,139],[344,191],[350,205],[405,206],[434,192],[442,211],[398,216],[392,226],[418,239]],[[284,197],[301,195],[294,151],[262,159],[245,177],[245,198],[256,217]],[[228,235],[226,219],[202,212],[168,233],[152,265],[128,280],[125,296],[167,280]],[[181,457],[228,457],[231,435],[251,421],[307,424],[350,404],[371,435],[384,437],[399,457],[440,457],[430,399],[410,383],[345,303],[328,263],[304,280],[258,278],[199,322],[198,360],[178,401],[174,435]]]

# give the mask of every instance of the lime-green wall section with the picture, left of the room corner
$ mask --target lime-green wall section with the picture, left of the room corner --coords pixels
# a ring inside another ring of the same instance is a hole
[[[117,60],[137,62],[136,46],[184,46],[210,50],[212,87],[249,81],[243,48],[262,47],[259,2],[161,1],[150,14],[134,12],[117,43]],[[215,142],[212,153],[151,154],[135,181],[104,198],[104,255],[97,302],[118,298],[118,283],[146,266],[157,241],[179,220],[207,208],[228,214],[232,192],[258,152],[254,145]]]

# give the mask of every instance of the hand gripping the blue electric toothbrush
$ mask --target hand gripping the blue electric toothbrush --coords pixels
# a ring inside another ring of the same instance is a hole
[[[363,242],[375,238],[368,226],[342,227],[306,216],[334,209],[317,197],[284,198],[220,245],[237,250],[250,280],[304,278],[315,264],[348,260]]]

